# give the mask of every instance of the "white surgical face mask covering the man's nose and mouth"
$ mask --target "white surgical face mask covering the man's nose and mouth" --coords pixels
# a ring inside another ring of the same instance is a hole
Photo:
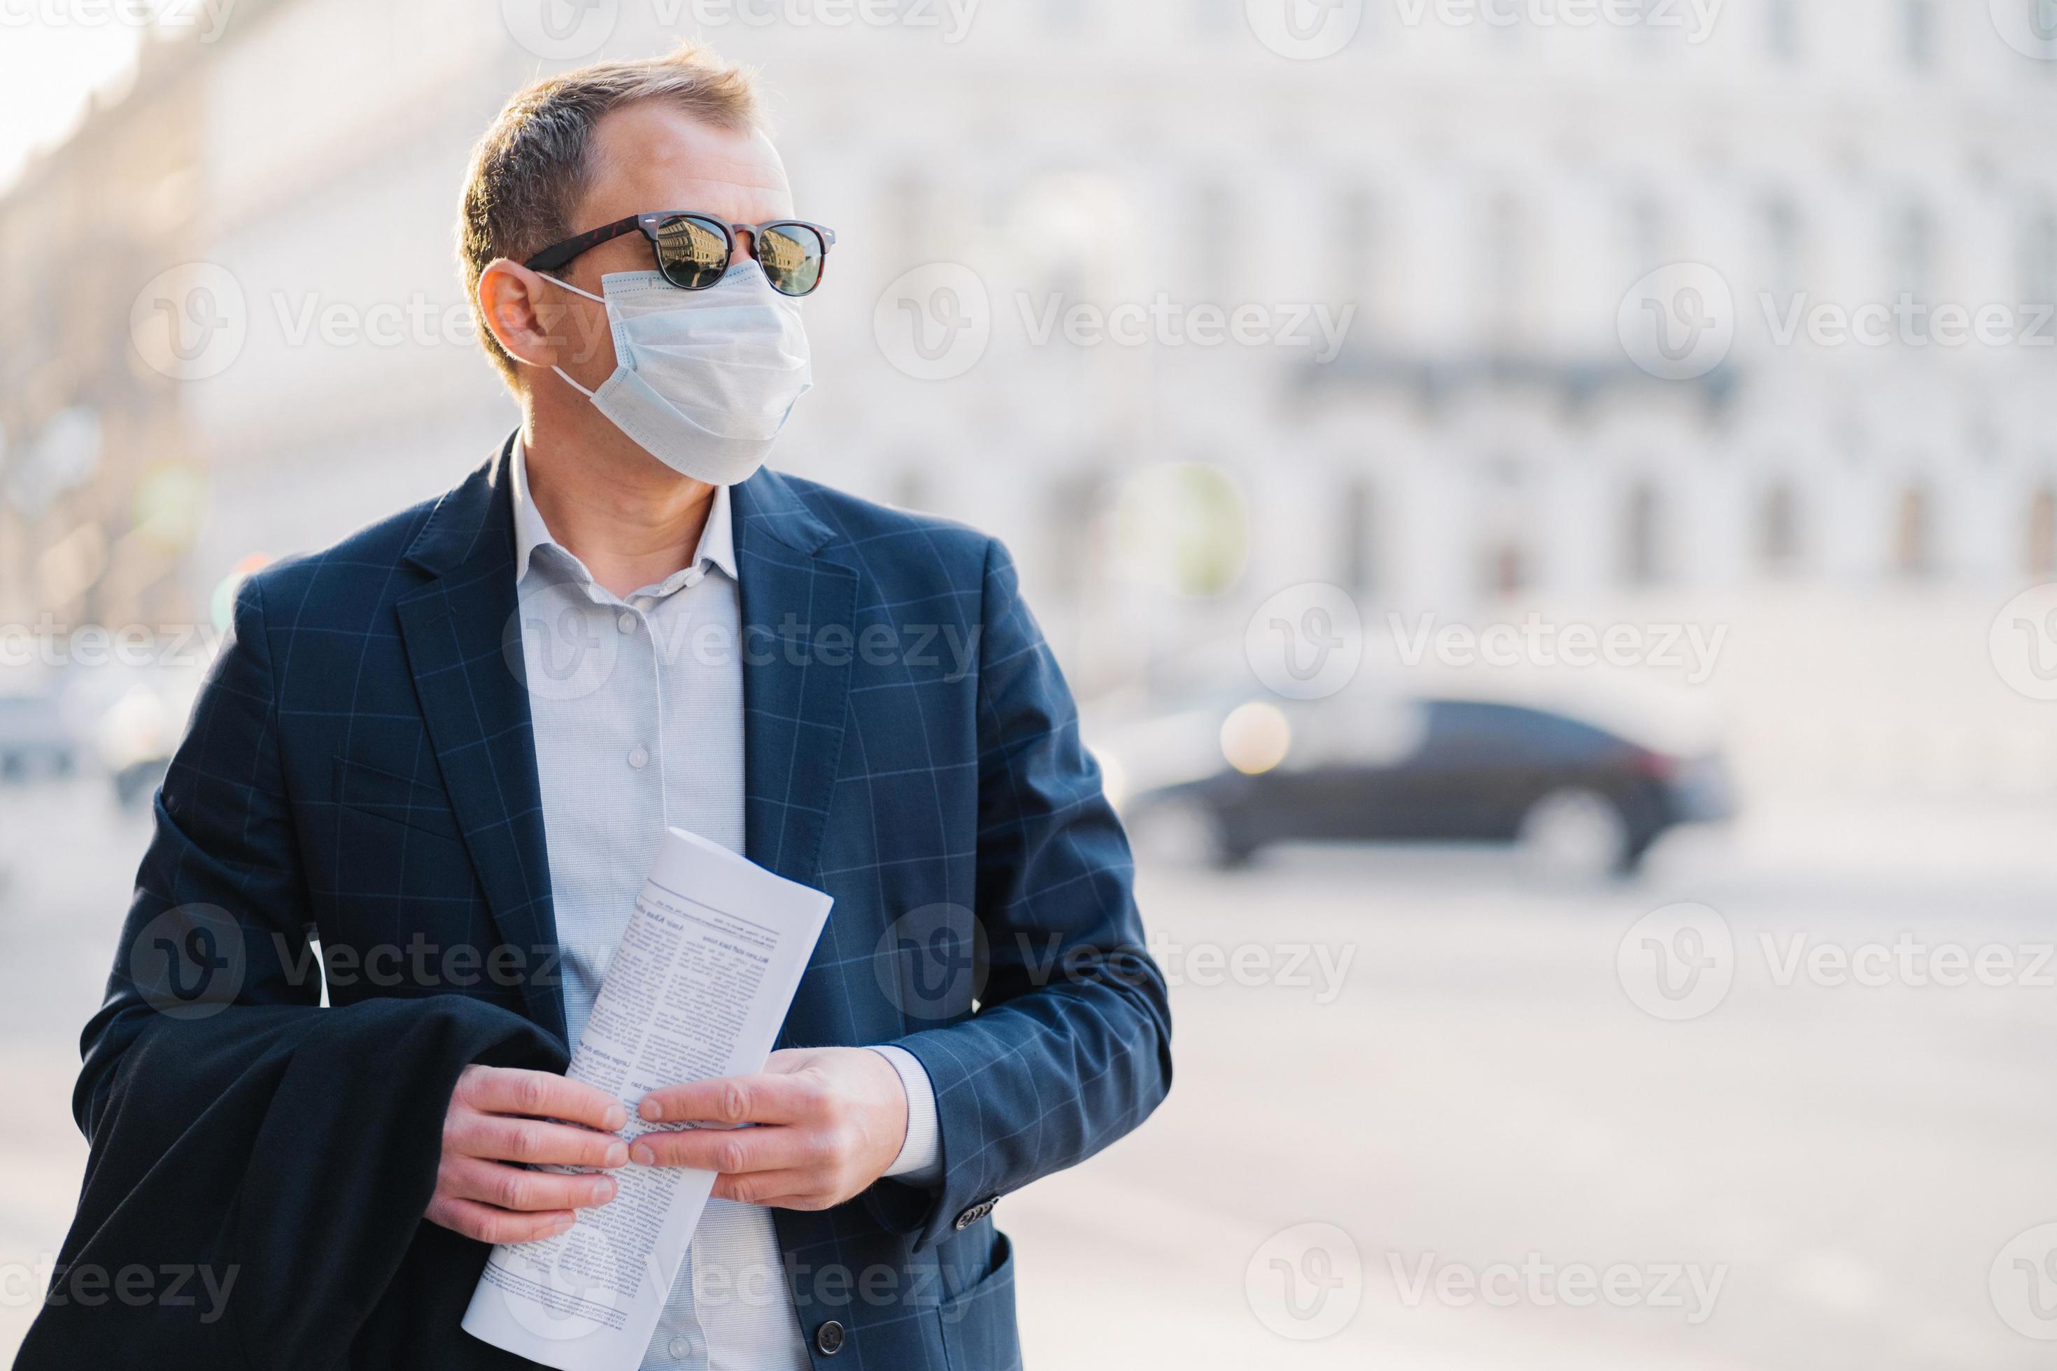
[[[798,300],[771,290],[755,261],[706,290],[679,290],[656,271],[611,271],[599,296],[557,284],[607,306],[615,374],[586,391],[551,370],[679,475],[747,481],[815,384]]]

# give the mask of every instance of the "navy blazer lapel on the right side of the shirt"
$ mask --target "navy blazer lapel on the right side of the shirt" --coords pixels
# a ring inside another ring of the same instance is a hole
[[[743,793],[751,861],[821,884],[821,832],[843,750],[856,569],[773,471],[730,491],[743,582]]]

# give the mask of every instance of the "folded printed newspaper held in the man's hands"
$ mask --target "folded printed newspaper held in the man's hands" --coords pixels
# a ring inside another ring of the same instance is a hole
[[[827,894],[671,828],[566,1075],[627,1106],[627,1141],[689,1126],[646,1124],[636,1106],[664,1085],[761,1071],[827,919]],[[714,1172],[613,1176],[613,1202],[580,1209],[568,1231],[494,1248],[465,1332],[560,1371],[642,1365]]]

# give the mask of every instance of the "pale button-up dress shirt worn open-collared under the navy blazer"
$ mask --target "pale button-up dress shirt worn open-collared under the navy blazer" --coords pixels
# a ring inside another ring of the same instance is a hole
[[[621,600],[549,536],[529,495],[520,440],[512,495],[522,660],[564,950],[564,1020],[576,1044],[664,828],[743,851],[734,530],[728,487],[716,487],[693,563]],[[940,1163],[928,1073],[901,1048],[874,1050],[907,1087],[907,1141],[887,1176],[934,1182]],[[642,1365],[810,1365],[769,1209],[708,1202]]]

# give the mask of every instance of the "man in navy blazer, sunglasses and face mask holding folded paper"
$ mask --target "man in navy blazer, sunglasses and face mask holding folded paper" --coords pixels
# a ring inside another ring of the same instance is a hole
[[[457,1332],[488,1244],[625,1163],[720,1172],[644,1367],[1018,1361],[989,1215],[1162,1100],[1164,983],[1006,553],[761,469],[831,247],[706,51],[500,113],[461,257],[520,430],[243,586],[84,1036],[95,1163],[25,1365],[107,1350],[78,1272],[140,1248],[249,1272],[251,1365],[516,1365]],[[615,1102],[533,1067],[666,826],[835,906],[763,1073]],[[625,1106],[755,1128],[627,1155]],[[154,1365],[200,1361],[152,1320]]]

